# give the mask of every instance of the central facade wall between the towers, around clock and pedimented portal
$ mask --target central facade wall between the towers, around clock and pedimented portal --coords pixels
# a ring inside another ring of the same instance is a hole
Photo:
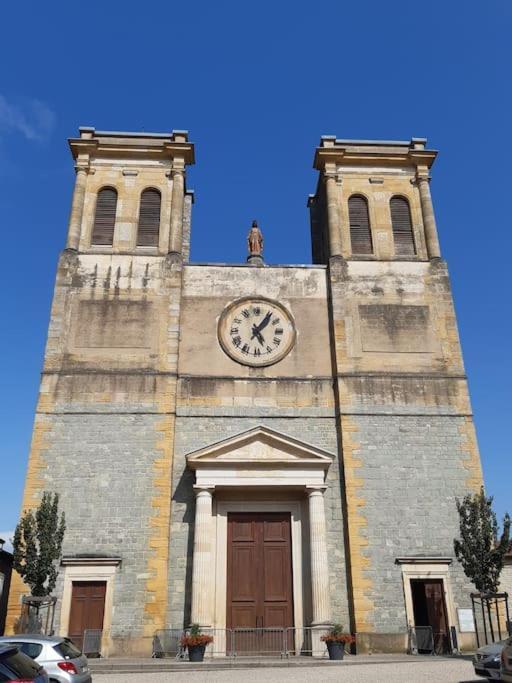
[[[275,365],[240,365],[219,344],[217,323],[224,307],[245,296],[277,299],[294,318],[296,345]],[[169,552],[170,625],[188,625],[190,618],[194,476],[186,469],[185,456],[258,425],[336,454],[325,494],[329,571],[334,617],[348,624],[343,483],[338,462],[325,268],[185,266],[176,414]],[[263,495],[280,499],[286,494],[267,491]],[[306,532],[304,529],[304,538]],[[306,557],[307,549],[304,554]],[[305,585],[307,592],[309,585]]]

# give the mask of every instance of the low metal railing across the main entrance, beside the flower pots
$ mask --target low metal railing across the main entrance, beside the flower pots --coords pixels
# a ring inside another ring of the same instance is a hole
[[[328,629],[313,626],[300,628],[205,628],[201,633],[212,636],[205,657],[327,657],[321,637]],[[153,657],[183,659],[186,651],[181,638],[188,629],[160,629],[153,636]]]

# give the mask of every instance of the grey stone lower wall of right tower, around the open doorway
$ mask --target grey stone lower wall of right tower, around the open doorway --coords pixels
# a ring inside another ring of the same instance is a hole
[[[467,493],[469,455],[462,417],[365,415],[350,418],[357,476],[364,497],[367,619],[380,633],[407,628],[402,557],[453,558],[458,531],[455,496]],[[453,561],[457,607],[468,605],[471,584]]]

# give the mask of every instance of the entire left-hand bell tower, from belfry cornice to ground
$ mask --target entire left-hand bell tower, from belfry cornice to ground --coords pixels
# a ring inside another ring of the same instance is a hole
[[[73,585],[106,583],[108,607],[117,571],[119,605],[105,608],[103,645],[130,633],[140,652],[155,628],[166,626],[179,320],[193,199],[185,174],[194,146],[186,131],[94,128],[80,128],[69,144],[76,182],[22,509],[37,507],[51,490],[66,511],[58,632],[70,628]],[[15,575],[8,628],[23,592]]]

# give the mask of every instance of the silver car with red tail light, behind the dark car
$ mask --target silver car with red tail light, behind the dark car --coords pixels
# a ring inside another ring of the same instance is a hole
[[[91,683],[87,657],[76,645],[62,636],[3,636],[1,643],[17,645],[38,664],[44,666],[50,683]]]

